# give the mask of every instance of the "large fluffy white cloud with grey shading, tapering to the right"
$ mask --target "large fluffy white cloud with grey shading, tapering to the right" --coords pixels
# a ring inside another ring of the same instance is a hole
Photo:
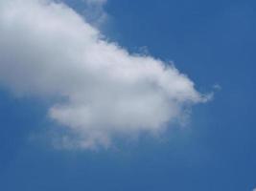
[[[51,0],[0,1],[0,83],[17,95],[58,97],[49,116],[72,132],[67,147],[161,132],[207,100],[174,66],[128,53]]]

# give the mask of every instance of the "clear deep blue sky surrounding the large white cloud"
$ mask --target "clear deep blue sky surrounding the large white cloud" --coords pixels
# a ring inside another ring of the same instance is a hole
[[[66,3],[86,9],[79,1]],[[114,147],[92,151],[51,146],[59,125],[48,117],[53,99],[17,97],[3,87],[0,189],[253,190],[255,9],[249,0],[109,0],[101,29],[109,40],[131,53],[147,47],[151,56],[174,61],[201,93],[216,84],[221,90],[192,108],[186,126],[170,124],[160,138],[117,138]]]

